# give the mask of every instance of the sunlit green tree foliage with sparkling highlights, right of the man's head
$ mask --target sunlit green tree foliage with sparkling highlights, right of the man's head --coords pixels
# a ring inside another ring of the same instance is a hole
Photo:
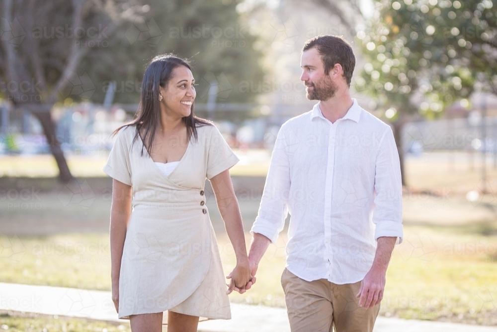
[[[496,93],[497,18],[491,0],[378,1],[367,32],[361,89],[396,119],[438,117],[476,89]]]

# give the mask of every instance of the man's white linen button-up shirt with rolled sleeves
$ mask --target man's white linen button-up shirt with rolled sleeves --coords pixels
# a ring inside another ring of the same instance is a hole
[[[286,121],[250,233],[278,239],[288,212],[286,268],[301,279],[355,283],[376,240],[402,243],[402,182],[392,129],[353,99],[331,123],[319,103]]]

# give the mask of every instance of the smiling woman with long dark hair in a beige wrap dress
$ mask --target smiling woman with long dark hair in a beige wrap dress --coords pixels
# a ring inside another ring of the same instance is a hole
[[[194,115],[194,82],[185,60],[154,58],[137,116],[114,132],[103,169],[113,178],[112,298],[133,332],[162,331],[163,323],[169,332],[197,331],[199,317],[230,319],[227,294],[251,280],[229,174],[239,159],[214,125]],[[205,206],[206,177],[237,256],[228,291]]]

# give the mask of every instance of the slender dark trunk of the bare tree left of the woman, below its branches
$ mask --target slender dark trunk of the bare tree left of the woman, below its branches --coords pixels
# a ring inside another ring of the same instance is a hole
[[[59,167],[59,181],[68,183],[70,180],[74,180],[74,177],[69,170],[69,166],[67,165],[66,157],[62,152],[60,142],[57,139],[55,123],[52,120],[50,112],[43,111],[32,113],[40,120],[45,136],[47,137],[48,145],[50,146],[50,151],[57,161],[57,166]]]

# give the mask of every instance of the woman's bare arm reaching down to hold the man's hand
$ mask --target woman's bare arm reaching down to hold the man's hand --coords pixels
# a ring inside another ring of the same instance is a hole
[[[229,294],[235,287],[239,289],[244,288],[251,279],[244,226],[229,170],[213,177],[211,185],[216,195],[219,212],[226,226],[226,232],[230,237],[233,248],[235,249],[235,255],[237,256],[237,266],[232,272],[231,284],[228,289]]]

